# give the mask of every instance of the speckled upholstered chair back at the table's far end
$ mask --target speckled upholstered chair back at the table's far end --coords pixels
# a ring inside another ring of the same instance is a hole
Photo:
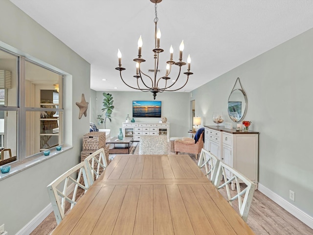
[[[167,136],[141,136],[139,141],[139,154],[167,154]]]

